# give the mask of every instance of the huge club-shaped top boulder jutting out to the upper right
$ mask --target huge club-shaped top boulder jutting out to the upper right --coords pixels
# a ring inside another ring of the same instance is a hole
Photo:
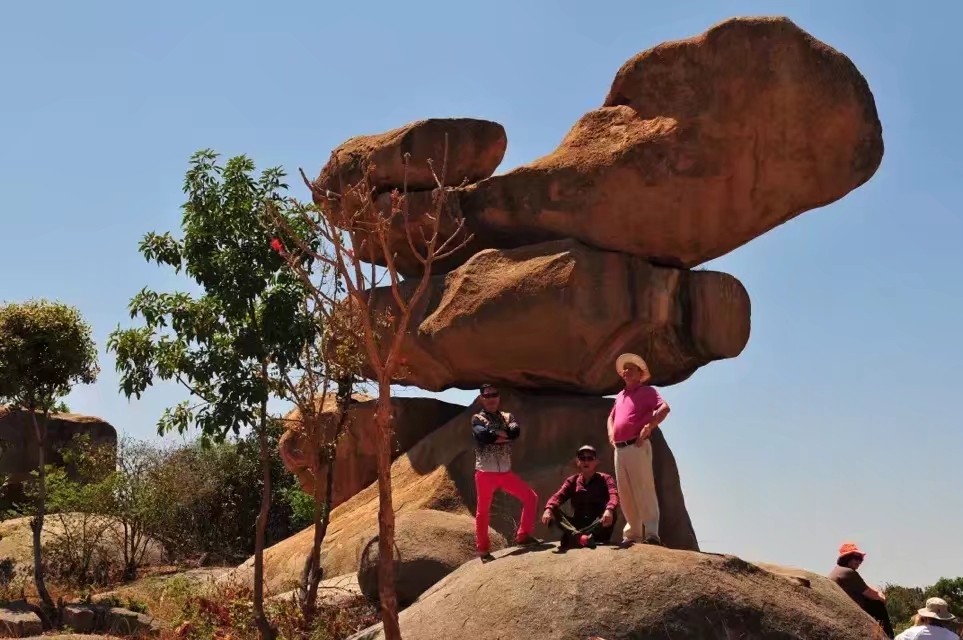
[[[696,266],[839,200],[882,157],[849,58],[786,18],[733,18],[626,62],[552,153],[453,190],[474,238],[435,271],[558,238]],[[426,198],[410,197],[425,224]],[[420,272],[403,234],[392,243],[399,269]]]

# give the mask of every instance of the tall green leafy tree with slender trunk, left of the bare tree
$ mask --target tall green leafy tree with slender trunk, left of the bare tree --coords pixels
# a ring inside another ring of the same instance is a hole
[[[148,233],[140,251],[148,261],[185,272],[201,287],[185,292],[142,290],[130,302],[144,326],[118,329],[109,348],[117,356],[121,391],[140,395],[155,379],[176,381],[191,399],[167,409],[159,433],[197,427],[205,442],[252,428],[258,434],[263,477],[254,552],[254,608],[262,637],[275,630],[264,613],[264,537],[271,503],[268,401],[278,370],[298,366],[314,325],[302,313],[301,281],[270,248],[264,209],[288,210],[279,168],[255,176],[237,156],[224,166],[203,150],[191,157],[184,181],[183,237]],[[298,224],[296,220],[292,224]]]

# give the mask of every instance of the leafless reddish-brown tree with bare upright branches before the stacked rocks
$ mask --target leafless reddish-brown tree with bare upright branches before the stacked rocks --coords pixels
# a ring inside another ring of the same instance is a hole
[[[332,162],[337,162],[334,154]],[[402,353],[404,339],[412,330],[409,325],[413,312],[428,291],[432,266],[460,251],[472,239],[464,233],[465,221],[460,208],[449,207],[451,189],[445,186],[447,135],[441,170],[436,171],[429,160],[436,187],[431,194],[430,209],[418,216],[418,220],[412,218],[408,206],[409,162],[410,156],[406,154],[403,188],[400,192],[397,189],[391,192],[387,210],[379,210],[377,205],[378,194],[370,182],[373,166],[366,168],[357,183],[342,184],[341,193],[322,190],[302,170],[302,179],[315,202],[313,206],[301,208],[302,221],[310,233],[299,234],[284,220],[278,218],[275,221],[275,249],[283,252],[288,264],[312,285],[314,304],[327,305],[331,310],[327,316],[329,319],[335,316],[348,318],[364,356],[365,376],[377,385],[378,581],[382,621],[388,640],[401,638],[392,553],[395,514],[391,493],[394,439],[391,386],[404,377],[407,367],[407,358]],[[444,236],[441,233],[443,220],[447,223]],[[399,275],[396,248],[392,246],[391,237],[395,222],[403,226],[406,248],[422,267],[421,275],[411,280],[402,280]],[[328,286],[316,286],[311,282],[311,274],[299,266],[308,258],[331,269],[338,283],[335,291],[343,292],[343,298],[332,296]],[[383,265],[380,273],[379,263]],[[384,281],[387,284],[379,286]]]

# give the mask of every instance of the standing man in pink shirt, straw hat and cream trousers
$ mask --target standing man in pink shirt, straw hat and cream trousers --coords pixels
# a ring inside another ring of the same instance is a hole
[[[625,389],[615,396],[608,420],[609,442],[615,448],[619,504],[625,516],[622,544],[661,544],[649,436],[669,415],[669,405],[655,388],[645,384],[652,377],[645,360],[634,353],[623,353],[615,369],[625,382]]]

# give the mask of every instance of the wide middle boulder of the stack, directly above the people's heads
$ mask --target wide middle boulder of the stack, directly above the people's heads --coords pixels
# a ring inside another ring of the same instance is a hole
[[[417,284],[403,282],[403,295]],[[394,304],[390,287],[375,293]],[[622,388],[614,363],[631,351],[653,384],[670,385],[738,356],[749,316],[745,288],[725,273],[657,267],[575,240],[489,249],[432,278],[411,317],[400,382],[606,395]]]

